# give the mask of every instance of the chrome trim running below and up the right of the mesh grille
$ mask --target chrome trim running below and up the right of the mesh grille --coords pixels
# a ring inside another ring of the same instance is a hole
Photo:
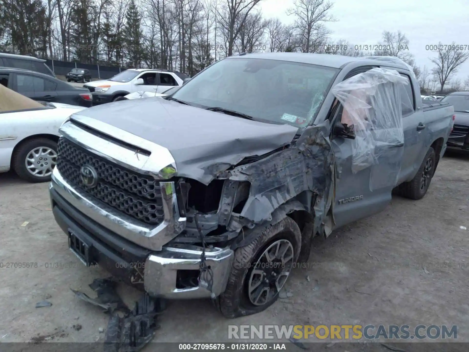
[[[156,227],[139,222],[134,218],[116,211],[97,200],[91,200],[82,191],[75,189],[54,168],[50,188],[57,191],[78,211],[116,234],[153,251],[160,251],[186,226],[186,218],[181,217],[176,199],[174,182],[160,182],[164,221]]]

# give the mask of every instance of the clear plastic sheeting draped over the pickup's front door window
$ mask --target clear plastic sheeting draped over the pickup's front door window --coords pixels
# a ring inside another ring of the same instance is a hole
[[[343,106],[340,121],[336,123],[341,122],[355,135],[355,139],[350,139],[352,172],[356,174],[377,166],[380,161],[381,166],[387,168],[386,175],[378,179],[372,177],[371,190],[397,183],[404,146],[402,110],[405,106],[413,109],[406,84],[408,79],[397,71],[376,68],[350,77],[332,88]],[[377,175],[373,169],[371,174]]]

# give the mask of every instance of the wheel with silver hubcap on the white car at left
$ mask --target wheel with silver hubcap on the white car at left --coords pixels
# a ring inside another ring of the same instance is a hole
[[[57,162],[57,143],[47,138],[31,139],[13,154],[13,169],[23,180],[49,182]]]

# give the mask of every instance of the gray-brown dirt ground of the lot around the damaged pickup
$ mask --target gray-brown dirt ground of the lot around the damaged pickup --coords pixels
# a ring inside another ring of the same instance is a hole
[[[458,340],[469,342],[469,230],[460,229],[469,229],[468,166],[468,155],[451,153],[424,199],[394,197],[384,212],[318,238],[309,267],[296,268],[287,283],[293,297],[232,321],[207,300],[170,302],[155,340],[227,341],[228,324],[456,324]],[[0,341],[102,341],[106,314],[74,298],[70,288],[94,297],[88,284],[106,272],[86,269],[70,253],[50,211],[47,184],[4,174],[0,190],[0,262],[38,263],[0,269]],[[138,297],[124,286],[119,293],[131,306]],[[35,308],[43,299],[53,306]],[[325,349],[371,351],[370,346],[336,343]],[[373,351],[387,350],[373,344]]]

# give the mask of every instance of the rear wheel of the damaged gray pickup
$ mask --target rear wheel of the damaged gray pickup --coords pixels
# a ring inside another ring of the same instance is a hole
[[[412,181],[404,182],[399,185],[397,193],[409,199],[418,200],[424,198],[424,195],[430,187],[433,174],[435,173],[435,166],[435,150],[430,148]]]

